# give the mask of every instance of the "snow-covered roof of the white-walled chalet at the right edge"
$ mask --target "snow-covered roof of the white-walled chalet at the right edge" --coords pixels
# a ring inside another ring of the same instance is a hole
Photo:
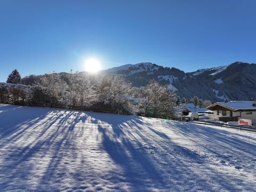
[[[229,101],[229,102],[217,102],[213,105],[210,105],[206,107],[207,109],[211,109],[215,106],[221,106],[228,108],[233,111],[239,111],[239,110],[256,110],[256,107],[253,106],[253,103],[256,103],[256,101]]]

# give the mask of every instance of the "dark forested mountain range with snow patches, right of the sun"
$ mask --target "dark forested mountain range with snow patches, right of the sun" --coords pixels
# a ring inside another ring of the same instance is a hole
[[[180,97],[188,99],[194,95],[212,102],[256,98],[256,64],[253,63],[234,62],[185,73],[177,68],[142,62],[104,71],[122,76],[137,87],[145,86],[150,79],[157,79],[159,83],[177,91]]]

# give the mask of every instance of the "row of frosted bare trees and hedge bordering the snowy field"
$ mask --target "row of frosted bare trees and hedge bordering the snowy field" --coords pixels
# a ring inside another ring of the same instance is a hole
[[[19,86],[22,81],[33,86]],[[90,76],[70,71],[65,77],[53,72],[21,79],[15,69],[7,83],[12,84],[0,87],[0,102],[15,105],[127,115],[142,111],[147,116],[162,118],[172,118],[177,107],[177,94],[154,79],[146,86],[132,87],[123,77],[111,74]],[[137,98],[137,101],[133,102],[131,98]]]

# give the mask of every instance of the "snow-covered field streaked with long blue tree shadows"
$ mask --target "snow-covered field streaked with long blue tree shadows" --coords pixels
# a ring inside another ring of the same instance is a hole
[[[255,191],[256,133],[0,105],[1,191]]]

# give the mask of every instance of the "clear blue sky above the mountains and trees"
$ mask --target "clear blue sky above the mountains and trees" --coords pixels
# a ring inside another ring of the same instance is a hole
[[[256,63],[255,0],[0,0],[0,82],[154,62],[186,72]]]

